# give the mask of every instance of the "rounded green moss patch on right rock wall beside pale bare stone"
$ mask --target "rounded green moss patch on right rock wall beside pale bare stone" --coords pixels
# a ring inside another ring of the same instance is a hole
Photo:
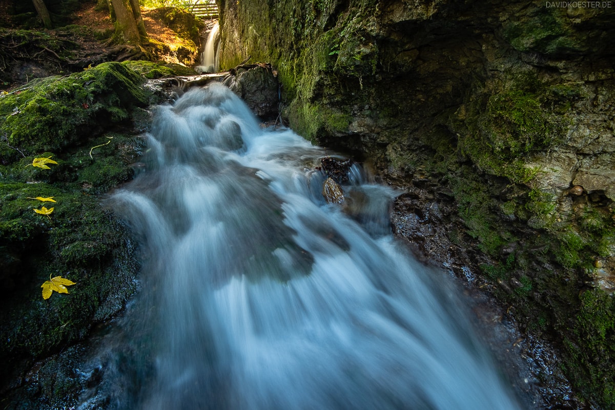
[[[511,74],[498,92],[465,107],[461,122],[452,117],[461,131],[459,149],[482,171],[530,185],[542,170],[528,161],[563,142],[563,114],[578,95],[571,87],[549,85],[532,71]]]

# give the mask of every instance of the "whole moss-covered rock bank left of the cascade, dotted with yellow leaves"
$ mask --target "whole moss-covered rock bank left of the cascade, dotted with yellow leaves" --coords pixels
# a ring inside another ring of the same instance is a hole
[[[149,120],[144,108],[160,101],[131,68],[167,72],[104,63],[0,97],[2,389],[19,385],[34,360],[113,317],[135,290],[135,243],[101,196],[132,178]],[[40,168],[34,158],[55,163]],[[43,206],[52,212],[35,212]],[[76,284],[44,300],[41,285],[55,276]]]

